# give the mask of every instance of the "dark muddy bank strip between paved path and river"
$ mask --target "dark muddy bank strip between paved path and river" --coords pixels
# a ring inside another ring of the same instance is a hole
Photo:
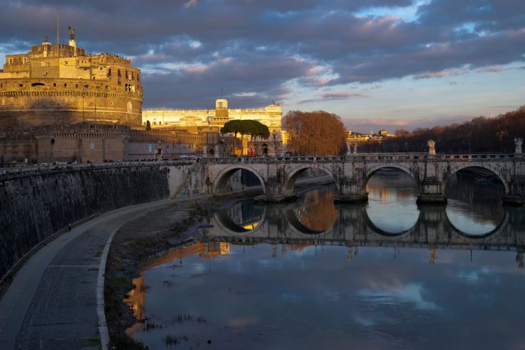
[[[150,256],[172,248],[170,241],[184,241],[191,236],[191,226],[202,221],[219,207],[225,207],[253,193],[221,197],[195,197],[178,200],[138,217],[121,226],[114,236],[106,263],[106,320],[112,344],[116,349],[145,349],[125,333],[136,324],[133,310],[123,300],[135,288],[133,278],[139,277],[140,263]]]

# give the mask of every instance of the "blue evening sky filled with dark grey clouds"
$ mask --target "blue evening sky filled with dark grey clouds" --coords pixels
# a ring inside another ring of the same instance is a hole
[[[213,109],[222,94],[393,132],[525,104],[523,0],[60,2],[63,43],[72,26],[87,53],[142,70],[143,109]],[[0,57],[56,41],[56,0],[0,6]]]

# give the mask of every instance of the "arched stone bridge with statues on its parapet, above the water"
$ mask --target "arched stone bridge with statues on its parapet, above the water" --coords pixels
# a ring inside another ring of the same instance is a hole
[[[248,170],[258,177],[266,202],[295,197],[295,180],[308,169],[323,170],[333,178],[336,202],[367,200],[366,185],[382,168],[397,168],[414,179],[419,187],[418,202],[445,203],[448,180],[459,170],[477,167],[490,170],[504,186],[503,200],[523,204],[525,160],[516,148],[514,154],[436,154],[436,153],[353,153],[344,156],[302,156],[270,158],[206,158],[206,183],[214,193],[226,190],[226,182],[236,171]]]

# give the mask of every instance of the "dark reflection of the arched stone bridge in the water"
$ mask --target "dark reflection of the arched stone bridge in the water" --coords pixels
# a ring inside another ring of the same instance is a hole
[[[516,261],[523,267],[525,251],[525,214],[521,208],[509,207],[501,222],[486,234],[473,235],[457,229],[448,219],[443,205],[419,207],[414,226],[402,232],[389,233],[377,227],[363,204],[338,206],[338,217],[324,231],[304,226],[293,205],[262,205],[250,222],[236,224],[228,214],[214,213],[210,227],[199,232],[201,242],[294,244],[296,246],[392,246],[429,248],[431,259],[436,249],[516,251]],[[350,250],[349,250],[350,252]],[[351,252],[350,252],[351,253]]]

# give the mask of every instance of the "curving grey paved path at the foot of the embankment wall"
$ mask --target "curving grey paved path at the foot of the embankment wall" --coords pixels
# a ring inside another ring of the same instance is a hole
[[[41,248],[0,300],[0,349],[100,349],[96,282],[109,236],[169,200],[118,209]]]

